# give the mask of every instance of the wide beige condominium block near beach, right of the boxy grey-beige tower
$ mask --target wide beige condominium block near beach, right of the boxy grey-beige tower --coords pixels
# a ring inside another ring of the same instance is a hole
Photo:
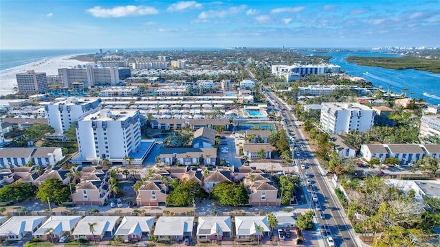
[[[58,69],[58,76],[61,86],[64,87],[72,86],[73,82],[86,82],[87,86],[119,83],[118,67],[99,68],[93,64],[87,64],[85,67]]]

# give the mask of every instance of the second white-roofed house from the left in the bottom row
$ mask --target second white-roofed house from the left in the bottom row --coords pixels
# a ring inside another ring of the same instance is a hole
[[[82,216],[78,215],[52,215],[33,235],[43,240],[50,240],[52,235],[52,239],[58,241],[65,234],[72,235],[81,218]]]

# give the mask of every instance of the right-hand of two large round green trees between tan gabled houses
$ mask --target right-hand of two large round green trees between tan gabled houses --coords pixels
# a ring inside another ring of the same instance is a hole
[[[249,203],[248,191],[243,183],[222,181],[212,188],[211,196],[214,201],[232,207]]]

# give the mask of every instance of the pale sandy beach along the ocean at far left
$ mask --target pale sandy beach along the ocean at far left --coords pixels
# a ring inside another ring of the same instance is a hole
[[[59,68],[74,67],[78,64],[89,64],[90,62],[82,62],[73,60],[76,55],[61,56],[57,58],[51,58],[47,60],[41,60],[33,62],[32,64],[25,64],[16,69],[12,69],[7,73],[1,73],[0,75],[0,95],[8,95],[14,93],[14,86],[17,86],[17,79],[15,74],[23,73],[28,70],[34,70],[35,72],[45,72],[46,75],[58,75]]]

